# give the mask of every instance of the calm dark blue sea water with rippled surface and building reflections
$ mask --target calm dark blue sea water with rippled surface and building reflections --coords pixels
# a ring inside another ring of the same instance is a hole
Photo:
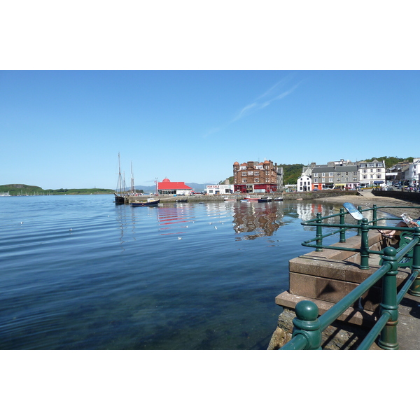
[[[318,211],[0,197],[0,349],[266,349]]]

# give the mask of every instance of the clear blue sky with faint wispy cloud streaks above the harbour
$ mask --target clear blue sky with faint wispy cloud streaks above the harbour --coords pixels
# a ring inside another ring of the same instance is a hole
[[[216,183],[235,161],[420,156],[419,71],[0,71],[0,184]]]

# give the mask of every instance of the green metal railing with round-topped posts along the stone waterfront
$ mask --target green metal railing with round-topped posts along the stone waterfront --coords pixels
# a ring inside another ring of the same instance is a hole
[[[321,217],[321,214],[316,214],[316,218],[311,221],[303,222],[302,225],[316,226],[316,237],[302,243],[304,246],[314,246],[316,251],[322,251],[325,248],[339,249],[342,251],[357,251],[360,252],[360,269],[369,268],[369,255],[371,253],[379,253],[382,255],[381,268],[377,269],[372,275],[367,277],[365,281],[360,283],[348,295],[339,300],[333,307],[328,309],[323,315],[318,317],[318,307],[310,300],[303,300],[298,302],[295,307],[296,317],[293,319],[293,335],[292,339],[286,343],[280,350],[320,350],[322,332],[329,325],[331,325],[337,318],[346,311],[351,305],[360,299],[364,293],[374,286],[380,279],[382,279],[382,298],[380,307],[380,316],[373,328],[368,332],[363,342],[358,346],[358,350],[367,350],[372,346],[374,341],[379,337],[378,345],[381,349],[396,350],[398,349],[397,339],[397,324],[398,324],[398,305],[402,297],[406,293],[411,295],[420,296],[420,228],[403,228],[398,227],[398,230],[409,230],[412,232],[413,239],[408,244],[395,249],[387,246],[382,251],[372,251],[369,249],[368,234],[371,229],[384,229],[386,227],[377,225],[381,220],[400,220],[400,218],[377,218],[377,209],[398,208],[398,209],[413,209],[413,207],[376,207],[366,209],[363,211],[372,211],[372,221],[363,218],[358,221],[356,228],[360,238],[360,248],[343,248],[338,246],[323,245],[323,238],[330,235],[339,233],[340,242],[345,242],[346,230],[354,229],[355,225],[344,223],[346,211],[340,210],[339,214],[332,216]],[[419,208],[420,207],[416,207]],[[362,209],[358,207],[361,212]],[[337,217],[340,218],[340,223],[323,223],[325,219]],[[323,227],[337,227],[339,230],[322,234]],[[393,227],[388,227],[393,229]],[[311,244],[311,242],[316,244]],[[412,253],[412,271],[411,274],[405,279],[400,292],[397,293],[397,274],[398,264],[407,254]]]

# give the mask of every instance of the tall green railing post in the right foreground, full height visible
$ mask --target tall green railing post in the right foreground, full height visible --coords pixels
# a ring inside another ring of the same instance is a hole
[[[392,246],[384,249],[382,265],[389,262],[391,269],[382,278],[382,300],[381,314],[385,311],[391,314],[386,325],[381,331],[378,346],[384,350],[398,350],[397,324],[398,324],[398,303],[397,303],[397,273],[398,261],[395,255],[397,250]]]

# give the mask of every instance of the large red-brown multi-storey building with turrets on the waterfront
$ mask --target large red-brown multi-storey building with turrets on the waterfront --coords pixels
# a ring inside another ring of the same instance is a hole
[[[272,160],[233,164],[235,193],[276,193],[283,189],[283,168]]]

